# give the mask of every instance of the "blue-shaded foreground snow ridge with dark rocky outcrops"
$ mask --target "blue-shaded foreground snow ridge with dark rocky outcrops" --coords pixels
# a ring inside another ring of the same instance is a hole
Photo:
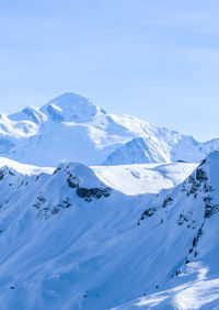
[[[166,309],[217,305],[218,180],[219,152],[159,195],[126,196],[82,164],[39,176],[2,167],[2,309],[103,310],[158,291]]]

